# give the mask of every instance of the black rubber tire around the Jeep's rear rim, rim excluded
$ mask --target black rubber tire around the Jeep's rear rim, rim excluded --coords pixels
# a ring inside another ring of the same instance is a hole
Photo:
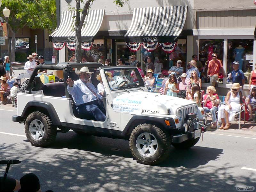
[[[36,140],[30,133],[30,124],[33,120],[39,120],[44,125],[44,136],[40,140]],[[57,135],[57,128],[53,126],[50,117],[40,111],[32,112],[25,121],[25,133],[29,142],[36,147],[45,147],[52,144]]]

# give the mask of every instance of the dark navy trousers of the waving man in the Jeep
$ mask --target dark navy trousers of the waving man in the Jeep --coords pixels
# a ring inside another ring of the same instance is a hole
[[[93,116],[96,121],[105,121],[106,119],[106,110],[101,100],[94,100],[79,105],[76,110],[80,114]]]

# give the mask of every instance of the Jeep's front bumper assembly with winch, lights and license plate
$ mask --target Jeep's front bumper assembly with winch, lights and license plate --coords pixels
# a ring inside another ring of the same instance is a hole
[[[173,143],[182,143],[186,140],[200,137],[201,132],[206,131],[207,125],[204,125],[203,121],[199,121],[199,119],[196,118],[196,114],[190,113],[187,114],[182,127],[185,133],[173,135]]]

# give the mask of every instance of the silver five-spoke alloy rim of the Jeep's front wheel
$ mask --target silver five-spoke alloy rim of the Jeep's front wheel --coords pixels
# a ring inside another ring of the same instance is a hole
[[[155,155],[158,148],[156,137],[148,132],[141,133],[136,139],[136,148],[145,157]]]

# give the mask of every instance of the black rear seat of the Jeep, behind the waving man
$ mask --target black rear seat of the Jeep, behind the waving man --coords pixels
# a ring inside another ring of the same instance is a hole
[[[42,90],[46,96],[62,97],[66,95],[64,82],[44,84]]]

